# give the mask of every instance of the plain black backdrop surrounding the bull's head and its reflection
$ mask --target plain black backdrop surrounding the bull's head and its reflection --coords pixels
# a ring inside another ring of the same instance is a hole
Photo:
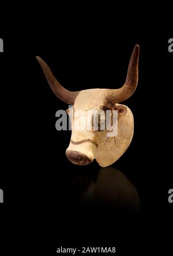
[[[35,244],[40,254],[54,255],[58,246],[80,244],[115,245],[119,255],[124,250],[170,250],[173,53],[168,52],[169,21],[164,25],[155,19],[148,24],[145,19],[122,21],[123,16],[116,17],[118,10],[106,14],[85,8],[77,14],[63,11],[56,16],[35,13],[37,21],[30,16],[23,25],[22,19],[10,23],[9,32],[0,36],[5,45],[0,180],[4,206],[21,217],[24,231],[32,229],[29,247]],[[124,103],[134,115],[134,137],[112,164],[140,196],[140,217],[129,217],[78,207],[72,200],[69,188],[74,178],[95,178],[100,167],[96,161],[74,166],[66,159],[70,131],[55,130],[55,112],[68,106],[51,92],[35,56],[50,65],[66,89],[116,89],[125,82],[136,44],[140,45],[138,87]]]

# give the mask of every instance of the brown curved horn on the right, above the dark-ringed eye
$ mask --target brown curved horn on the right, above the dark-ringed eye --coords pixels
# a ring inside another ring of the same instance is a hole
[[[133,53],[131,54],[129,68],[125,84],[120,89],[106,89],[105,97],[112,103],[121,103],[127,100],[134,91],[138,84],[138,59],[140,53],[140,46],[134,46]]]

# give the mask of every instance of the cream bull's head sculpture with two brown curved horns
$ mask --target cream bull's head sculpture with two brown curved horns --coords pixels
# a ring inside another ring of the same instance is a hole
[[[52,91],[60,100],[73,105],[72,123],[84,121],[79,116],[75,116],[78,110],[83,111],[86,116],[91,109],[110,111],[110,118],[112,112],[117,113],[118,129],[114,136],[108,136],[107,127],[103,130],[99,129],[100,122],[103,120],[105,122],[105,117],[101,120],[101,115],[99,115],[99,126],[95,130],[72,129],[70,145],[66,149],[66,156],[72,163],[84,165],[96,159],[101,167],[106,167],[118,160],[129,147],[133,137],[133,114],[128,107],[119,103],[127,100],[136,90],[139,50],[140,47],[136,45],[130,58],[126,82],[120,89],[89,89],[78,92],[70,92],[62,87],[47,64],[37,57]]]

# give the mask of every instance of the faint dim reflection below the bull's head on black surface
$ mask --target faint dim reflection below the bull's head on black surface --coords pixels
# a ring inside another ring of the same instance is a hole
[[[73,192],[75,198],[80,198],[82,205],[89,203],[94,207],[121,210],[125,213],[140,211],[136,188],[121,171],[113,167],[101,168],[96,182],[86,175],[77,178],[73,182]]]

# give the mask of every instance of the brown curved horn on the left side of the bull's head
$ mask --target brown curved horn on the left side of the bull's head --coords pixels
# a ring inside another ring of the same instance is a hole
[[[44,75],[46,76],[47,82],[50,85],[52,91],[55,93],[55,95],[65,103],[74,105],[74,101],[79,92],[70,92],[69,90],[66,90],[57,81],[57,79],[52,74],[52,71],[50,70],[48,65],[44,62],[44,60],[42,60],[42,58],[40,58],[39,56],[36,56],[36,58],[37,58],[37,61],[39,61],[42,67],[42,70],[44,72]]]

